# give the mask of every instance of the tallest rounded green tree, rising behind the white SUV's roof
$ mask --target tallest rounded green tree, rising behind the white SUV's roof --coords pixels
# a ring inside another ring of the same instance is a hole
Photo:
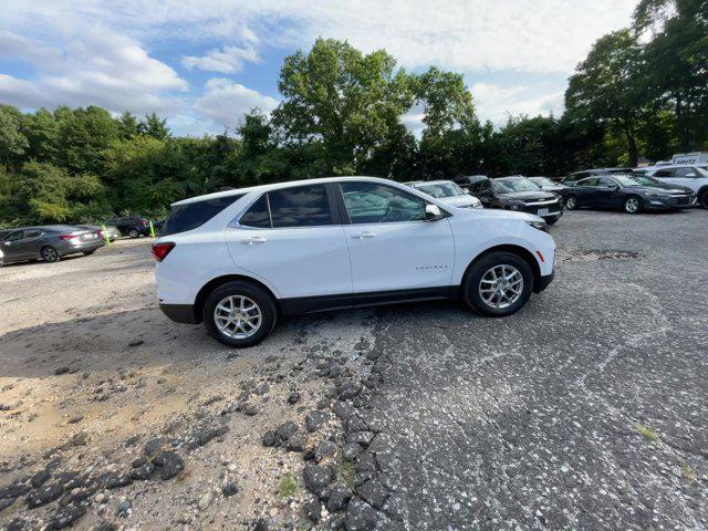
[[[356,173],[402,134],[413,104],[408,75],[383,50],[364,55],[347,42],[317,39],[312,50],[285,58],[278,87],[283,102],[273,125],[289,142],[317,145],[317,173]]]

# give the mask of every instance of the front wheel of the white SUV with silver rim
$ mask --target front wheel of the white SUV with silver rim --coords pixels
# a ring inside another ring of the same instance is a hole
[[[523,258],[499,251],[476,261],[462,283],[465,302],[491,317],[518,312],[533,291],[533,271]]]

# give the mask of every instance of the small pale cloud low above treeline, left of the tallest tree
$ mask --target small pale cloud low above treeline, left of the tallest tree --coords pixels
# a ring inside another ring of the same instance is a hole
[[[214,77],[206,83],[205,93],[197,100],[194,111],[220,127],[233,127],[244,113],[260,108],[270,113],[278,100],[235,83],[225,77]]]

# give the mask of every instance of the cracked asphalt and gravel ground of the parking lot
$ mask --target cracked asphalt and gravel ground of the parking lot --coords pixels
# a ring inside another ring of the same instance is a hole
[[[0,525],[705,529],[708,211],[553,236],[512,317],[327,313],[247,351],[162,315],[149,240],[0,269]]]

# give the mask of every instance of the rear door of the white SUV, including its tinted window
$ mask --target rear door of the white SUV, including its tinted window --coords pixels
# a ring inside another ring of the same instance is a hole
[[[302,185],[260,196],[226,230],[231,258],[283,299],[339,295],[351,304],[350,251],[331,185]]]

